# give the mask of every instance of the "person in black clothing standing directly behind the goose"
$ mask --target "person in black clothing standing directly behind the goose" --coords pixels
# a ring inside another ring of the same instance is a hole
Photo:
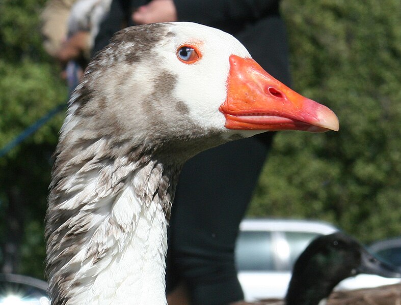
[[[289,85],[288,48],[279,0],[113,0],[93,53],[119,29],[192,21],[235,36],[274,77]],[[220,305],[244,298],[234,246],[274,133],[230,142],[187,162],[168,229],[166,289],[174,304]]]

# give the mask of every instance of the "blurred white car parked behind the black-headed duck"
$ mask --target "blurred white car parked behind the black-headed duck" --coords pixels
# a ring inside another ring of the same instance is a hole
[[[246,219],[239,226],[235,247],[238,279],[245,300],[283,298],[291,278],[292,265],[317,235],[338,231],[319,221]],[[399,283],[373,275],[358,275],[338,284],[349,290]]]

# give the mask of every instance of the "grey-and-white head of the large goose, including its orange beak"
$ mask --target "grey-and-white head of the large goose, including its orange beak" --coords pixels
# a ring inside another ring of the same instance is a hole
[[[170,157],[183,160],[263,131],[338,130],[331,110],[263,71],[231,35],[187,22],[119,32],[71,104],[86,131],[168,143]]]

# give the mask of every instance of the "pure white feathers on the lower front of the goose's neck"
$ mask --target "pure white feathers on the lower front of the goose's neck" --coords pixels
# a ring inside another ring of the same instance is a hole
[[[95,231],[66,265],[79,264],[75,279],[81,285],[72,289],[70,302],[165,304],[167,220],[162,206],[147,206],[127,187],[98,214]],[[94,250],[104,255],[94,258]]]

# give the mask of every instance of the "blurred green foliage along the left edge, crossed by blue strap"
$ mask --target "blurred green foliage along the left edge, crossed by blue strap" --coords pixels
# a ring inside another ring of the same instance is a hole
[[[41,46],[44,2],[0,0],[0,147],[66,100],[60,71]],[[43,218],[51,155],[63,117],[60,113],[0,158],[3,270],[9,270],[4,264],[10,261],[20,262],[14,272],[43,277]]]

